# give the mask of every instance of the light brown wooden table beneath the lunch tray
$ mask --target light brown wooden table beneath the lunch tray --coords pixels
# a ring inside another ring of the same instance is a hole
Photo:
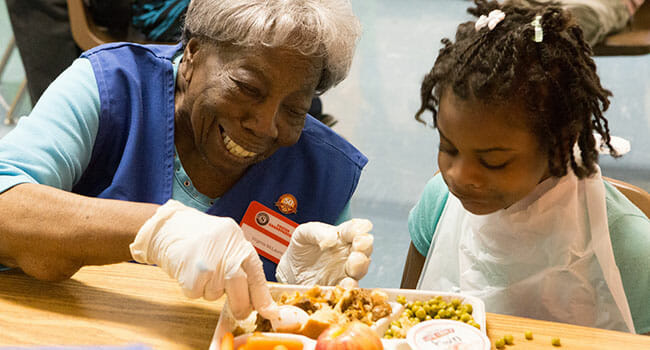
[[[0,345],[126,345],[207,349],[223,298],[190,300],[157,267],[116,264],[83,268],[48,283],[0,273]],[[650,349],[650,337],[531,319],[487,315],[488,336],[514,336],[508,350]],[[533,332],[525,340],[524,332]],[[561,348],[551,346],[559,337]],[[494,345],[493,345],[494,348]]]

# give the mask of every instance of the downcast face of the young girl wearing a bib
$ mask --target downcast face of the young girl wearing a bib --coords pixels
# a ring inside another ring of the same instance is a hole
[[[508,208],[549,177],[548,156],[520,104],[491,106],[446,90],[440,100],[438,167],[469,212]]]

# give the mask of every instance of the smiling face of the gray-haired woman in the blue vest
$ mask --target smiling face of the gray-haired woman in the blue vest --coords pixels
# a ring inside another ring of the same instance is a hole
[[[177,106],[184,136],[193,138],[201,157],[222,174],[241,173],[295,144],[321,61],[285,49],[191,40],[179,68],[186,84]]]

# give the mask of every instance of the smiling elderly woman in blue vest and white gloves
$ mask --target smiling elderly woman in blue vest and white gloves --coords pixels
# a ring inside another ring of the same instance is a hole
[[[319,221],[273,248],[281,281],[363,277],[371,225],[344,221],[367,159],[306,115],[358,35],[347,0],[193,0],[182,44],[85,52],[0,140],[0,264],[61,280],[135,259],[242,316],[276,273],[236,223],[258,202]]]

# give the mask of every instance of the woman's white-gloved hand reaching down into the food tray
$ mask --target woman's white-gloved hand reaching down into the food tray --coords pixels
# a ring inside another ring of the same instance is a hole
[[[202,213],[169,200],[156,210],[129,246],[133,258],[156,264],[186,296],[216,300],[224,291],[235,318],[273,304],[262,261],[231,218]]]

